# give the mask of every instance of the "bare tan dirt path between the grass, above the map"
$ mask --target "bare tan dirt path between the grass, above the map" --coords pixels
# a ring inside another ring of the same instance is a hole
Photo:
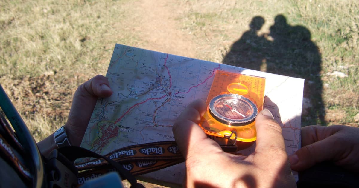
[[[182,30],[179,18],[183,14],[173,4],[176,1],[146,0],[133,5],[136,19],[134,32],[141,36],[141,48],[196,57],[196,43],[192,35]],[[173,42],[176,41],[176,42]]]

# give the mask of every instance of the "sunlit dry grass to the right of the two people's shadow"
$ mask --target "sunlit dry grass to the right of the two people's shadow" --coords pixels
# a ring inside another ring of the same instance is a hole
[[[312,40],[317,43],[322,54],[322,75],[333,71],[348,75],[345,78],[322,76],[323,85],[329,85],[323,90],[323,98],[327,99],[324,101],[325,107],[346,112],[345,120],[340,123],[352,122],[358,113],[359,97],[359,4],[357,1],[313,1],[303,6],[303,2],[292,2],[298,11],[293,21],[311,30]],[[348,98],[342,98],[341,102],[331,106],[332,101],[343,93],[352,93],[352,98],[348,95]],[[327,123],[330,125],[337,122]]]

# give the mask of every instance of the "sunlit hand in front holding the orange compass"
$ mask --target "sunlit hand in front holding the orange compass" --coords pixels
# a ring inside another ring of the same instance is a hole
[[[269,110],[256,117],[257,144],[249,156],[225,153],[199,127],[206,105],[192,102],[177,118],[173,134],[186,159],[184,187],[295,187],[281,127]]]

